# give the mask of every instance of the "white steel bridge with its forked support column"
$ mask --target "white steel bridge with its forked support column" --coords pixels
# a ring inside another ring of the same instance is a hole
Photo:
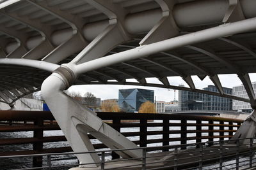
[[[1,102],[15,110],[17,99],[41,90],[75,152],[93,150],[88,134],[111,149],[137,146],[67,96],[71,85],[188,90],[248,102],[255,110],[249,76],[256,67],[255,6],[253,0],[0,1]],[[237,74],[248,99],[225,94],[219,74]],[[208,76],[218,92],[196,89],[193,75]],[[189,88],[171,85],[172,76]],[[160,83],[148,83],[150,77]],[[255,114],[234,139],[254,136]],[[77,157],[82,164],[99,162],[95,153]]]

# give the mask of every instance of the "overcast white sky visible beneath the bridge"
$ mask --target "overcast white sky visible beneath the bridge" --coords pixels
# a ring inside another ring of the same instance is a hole
[[[223,87],[232,88],[237,85],[241,85],[241,81],[237,77],[236,74],[223,74],[219,75],[221,84]],[[196,89],[202,89],[207,87],[207,85],[213,85],[212,81],[206,77],[203,81],[201,81],[197,76],[192,76],[193,81],[195,83]],[[256,73],[250,74],[251,81],[256,81]],[[186,85],[185,81],[180,77],[169,77],[171,85]],[[134,80],[131,80],[134,81]],[[148,83],[160,83],[156,78],[147,78]],[[150,89],[155,91],[155,96],[157,101],[173,101],[174,92],[173,90],[163,89],[163,88],[155,88],[155,87],[143,87],[143,86],[131,86],[131,85],[76,85],[70,87],[70,91],[81,92],[84,94],[86,92],[92,92],[96,97],[104,99],[118,99],[118,90],[119,89]],[[176,90],[176,99],[178,99],[178,90]]]

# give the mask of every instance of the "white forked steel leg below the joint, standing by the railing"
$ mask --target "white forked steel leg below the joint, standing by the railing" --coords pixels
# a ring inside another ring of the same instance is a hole
[[[115,129],[102,122],[95,112],[88,108],[83,108],[72,97],[67,96],[63,92],[67,88],[66,83],[64,83],[67,80],[61,76],[61,69],[58,72],[53,73],[44,81],[42,84],[42,95],[75,152],[94,150],[88,134],[91,134],[112,149],[138,147],[122,134],[115,131]],[[142,156],[141,150],[117,153],[124,158]],[[100,162],[96,153],[79,154],[77,158],[81,164],[95,163],[90,164],[90,166],[97,166],[96,162]]]

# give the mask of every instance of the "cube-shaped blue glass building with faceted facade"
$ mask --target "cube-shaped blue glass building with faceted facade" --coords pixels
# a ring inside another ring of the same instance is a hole
[[[138,111],[140,105],[150,101],[154,103],[154,90],[122,89],[118,93],[118,105],[122,111]]]

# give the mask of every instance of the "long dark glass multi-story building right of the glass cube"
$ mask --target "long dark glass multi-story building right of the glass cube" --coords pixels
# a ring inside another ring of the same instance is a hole
[[[204,90],[218,92],[214,85]],[[225,94],[232,94],[232,89],[223,87]],[[179,90],[179,110],[232,110],[232,99]]]

